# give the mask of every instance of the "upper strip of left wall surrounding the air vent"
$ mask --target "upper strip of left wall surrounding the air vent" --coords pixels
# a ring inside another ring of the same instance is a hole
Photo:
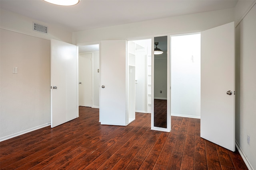
[[[32,18],[28,18],[4,9],[1,9],[0,12],[0,21],[2,29],[12,30],[44,39],[52,38],[67,43],[72,43],[72,32],[65,29],[64,27],[44,23],[42,21],[37,21]],[[33,31],[33,22],[48,26],[48,34]]]

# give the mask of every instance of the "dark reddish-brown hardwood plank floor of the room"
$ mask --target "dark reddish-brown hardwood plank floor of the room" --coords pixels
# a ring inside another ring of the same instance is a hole
[[[3,170],[238,170],[239,152],[200,138],[200,119],[172,116],[170,133],[150,130],[150,114],[128,126],[100,125],[98,109],[0,143]]]

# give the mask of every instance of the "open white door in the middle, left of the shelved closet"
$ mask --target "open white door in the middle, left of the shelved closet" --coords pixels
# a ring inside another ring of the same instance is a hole
[[[126,125],[126,40],[101,42],[100,122]]]

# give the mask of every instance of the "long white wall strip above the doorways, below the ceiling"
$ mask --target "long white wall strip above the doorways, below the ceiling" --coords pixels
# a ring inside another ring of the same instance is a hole
[[[73,43],[188,33],[232,21],[234,21],[234,8],[74,32]]]

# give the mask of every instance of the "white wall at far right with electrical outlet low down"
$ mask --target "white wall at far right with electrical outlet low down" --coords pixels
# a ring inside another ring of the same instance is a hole
[[[253,2],[255,4],[255,1]],[[247,6],[250,6],[247,4]],[[236,9],[248,11],[238,4]],[[240,18],[236,14],[237,18]],[[236,142],[248,167],[256,170],[256,5],[236,27]],[[247,143],[250,136],[250,145]]]

